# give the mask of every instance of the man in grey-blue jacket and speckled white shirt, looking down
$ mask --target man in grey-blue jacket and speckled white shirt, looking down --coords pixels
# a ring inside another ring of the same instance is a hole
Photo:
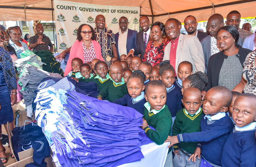
[[[212,55],[221,51],[221,49],[217,47],[217,32],[224,25],[224,18],[220,14],[214,14],[208,19],[206,31],[210,35],[208,35],[201,41],[205,61],[205,74],[207,73],[209,58]]]

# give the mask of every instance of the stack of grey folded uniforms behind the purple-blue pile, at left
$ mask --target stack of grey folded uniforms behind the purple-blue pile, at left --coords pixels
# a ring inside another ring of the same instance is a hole
[[[37,96],[35,90],[42,79],[46,77],[62,78],[61,75],[56,73],[48,73],[31,64],[25,64],[23,66],[22,73],[19,76],[19,85],[22,87],[20,93],[23,95],[24,104],[27,107],[27,116],[31,117],[33,113],[32,103]]]

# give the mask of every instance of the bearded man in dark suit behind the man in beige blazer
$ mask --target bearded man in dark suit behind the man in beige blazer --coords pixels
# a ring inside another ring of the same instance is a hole
[[[197,20],[194,16],[187,16],[184,20],[184,28],[187,31],[187,35],[196,35],[201,41],[204,37],[208,36],[208,33],[197,30]]]

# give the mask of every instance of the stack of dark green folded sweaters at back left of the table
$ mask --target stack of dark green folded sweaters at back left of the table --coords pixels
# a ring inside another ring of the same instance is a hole
[[[47,71],[49,73],[58,73],[63,77],[64,73],[63,70],[60,68],[60,62],[56,61],[52,52],[41,50],[35,51],[34,53],[38,55],[42,59],[42,62],[46,64],[43,65],[44,71]]]

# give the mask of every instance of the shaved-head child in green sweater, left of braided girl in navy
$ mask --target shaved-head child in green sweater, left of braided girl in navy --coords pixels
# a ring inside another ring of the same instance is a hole
[[[128,91],[123,78],[123,66],[119,62],[114,62],[110,66],[111,81],[99,92],[99,100],[106,99],[110,102],[124,97]],[[109,97],[107,97],[109,96]]]

